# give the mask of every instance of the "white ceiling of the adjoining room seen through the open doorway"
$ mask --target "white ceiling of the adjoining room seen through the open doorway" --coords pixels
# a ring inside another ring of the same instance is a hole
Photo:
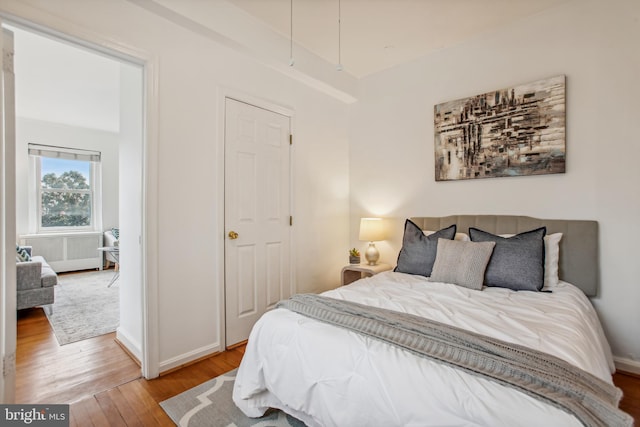
[[[117,61],[77,45],[11,27],[15,33],[16,115],[118,132]],[[64,82],[64,84],[60,84]]]

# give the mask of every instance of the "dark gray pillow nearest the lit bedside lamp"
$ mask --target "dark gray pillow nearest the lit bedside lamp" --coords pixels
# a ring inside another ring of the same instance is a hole
[[[402,249],[400,249],[398,263],[393,271],[430,276],[433,263],[436,260],[438,239],[452,240],[455,235],[455,224],[425,236],[420,227],[407,219],[404,223]]]

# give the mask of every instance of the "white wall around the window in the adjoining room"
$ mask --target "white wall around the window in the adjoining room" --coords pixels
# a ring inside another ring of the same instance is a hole
[[[19,95],[18,95],[19,96]],[[95,150],[102,163],[102,225],[118,224],[118,139],[115,132],[18,117],[16,119],[16,221],[18,236],[36,232],[36,194],[29,170],[28,144]],[[31,184],[30,184],[31,183]]]

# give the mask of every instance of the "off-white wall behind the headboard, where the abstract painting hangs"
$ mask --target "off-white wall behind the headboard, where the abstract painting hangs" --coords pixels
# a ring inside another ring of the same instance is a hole
[[[409,216],[522,214],[600,224],[593,303],[614,354],[640,361],[640,2],[576,0],[361,81],[350,108],[351,243],[361,216],[393,218],[377,246],[395,262]],[[567,170],[435,182],[433,106],[566,75]],[[639,365],[640,366],[640,365]]]

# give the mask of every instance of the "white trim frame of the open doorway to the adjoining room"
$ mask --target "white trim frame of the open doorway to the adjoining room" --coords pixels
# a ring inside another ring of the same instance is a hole
[[[20,9],[20,8],[19,8]],[[142,67],[143,136],[142,136],[142,375],[159,376],[160,346],[158,331],[158,69],[156,55],[105,38],[85,27],[42,11],[25,7],[20,16],[0,11],[3,22],[45,36],[67,40],[91,51],[124,60]],[[36,19],[32,19],[37,17]],[[4,302],[2,303],[4,304]],[[3,334],[5,331],[0,331]],[[15,336],[15,331],[14,331]],[[14,346],[15,348],[15,346]]]

